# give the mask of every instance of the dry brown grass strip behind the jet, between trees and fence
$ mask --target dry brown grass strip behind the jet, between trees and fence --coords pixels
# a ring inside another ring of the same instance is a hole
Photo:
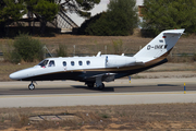
[[[148,44],[152,38],[144,38],[138,35],[132,36],[76,36],[76,35],[56,35],[54,37],[34,37],[47,46],[51,53],[56,52],[58,45],[66,45],[68,53],[73,55],[75,45],[75,55],[96,55],[115,53],[113,44],[122,43],[122,49],[119,53],[136,53],[140,48]],[[0,39],[0,52],[13,39]],[[174,47],[172,53],[196,53],[196,36],[181,37]]]

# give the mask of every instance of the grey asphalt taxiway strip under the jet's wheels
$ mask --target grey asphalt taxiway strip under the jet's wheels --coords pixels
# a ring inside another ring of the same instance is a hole
[[[103,91],[74,81],[37,83],[29,91],[29,82],[0,82],[0,107],[196,103],[196,78],[121,79],[106,83]]]

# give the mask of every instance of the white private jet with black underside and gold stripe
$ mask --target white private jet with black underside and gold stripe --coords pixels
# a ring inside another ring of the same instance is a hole
[[[170,29],[160,33],[133,57],[124,55],[101,55],[95,57],[47,58],[33,68],[10,74],[10,79],[30,81],[29,90],[34,90],[35,81],[74,80],[85,82],[88,87],[103,88],[102,82],[145,71],[167,62],[184,29]]]

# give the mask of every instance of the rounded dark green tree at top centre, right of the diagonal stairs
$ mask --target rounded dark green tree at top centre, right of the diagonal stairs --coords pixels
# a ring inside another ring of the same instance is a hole
[[[110,0],[107,12],[86,21],[82,28],[86,35],[130,35],[137,26],[136,11],[135,0]]]

